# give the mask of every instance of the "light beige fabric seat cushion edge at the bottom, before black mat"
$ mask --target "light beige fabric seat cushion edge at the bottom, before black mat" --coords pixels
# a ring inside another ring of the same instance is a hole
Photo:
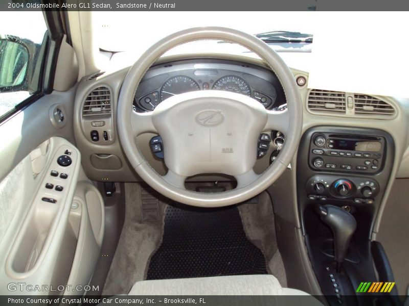
[[[269,275],[234,275],[137,282],[129,295],[309,295],[282,288]]]

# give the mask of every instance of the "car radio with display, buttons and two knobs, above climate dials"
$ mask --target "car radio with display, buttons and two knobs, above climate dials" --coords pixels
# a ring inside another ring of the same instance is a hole
[[[384,148],[383,137],[314,133],[308,163],[314,170],[376,173],[383,165]]]

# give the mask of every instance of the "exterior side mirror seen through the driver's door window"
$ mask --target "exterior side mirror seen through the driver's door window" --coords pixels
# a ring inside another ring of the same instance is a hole
[[[0,35],[0,92],[29,90],[37,50],[30,40]]]

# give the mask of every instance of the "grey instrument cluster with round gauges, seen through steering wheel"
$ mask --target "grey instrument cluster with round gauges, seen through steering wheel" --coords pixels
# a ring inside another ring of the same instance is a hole
[[[173,95],[197,90],[240,93],[268,110],[286,103],[283,88],[271,71],[228,60],[192,59],[150,68],[135,92],[133,110],[150,112]]]

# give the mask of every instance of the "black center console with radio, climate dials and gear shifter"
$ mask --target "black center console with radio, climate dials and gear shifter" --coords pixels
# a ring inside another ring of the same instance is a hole
[[[382,246],[371,241],[393,156],[393,139],[381,130],[316,126],[302,137],[299,214],[312,268],[330,305],[372,303],[368,299],[380,295],[357,293],[360,283],[393,282]],[[354,224],[350,230],[345,220]],[[392,304],[395,290],[382,293]]]

